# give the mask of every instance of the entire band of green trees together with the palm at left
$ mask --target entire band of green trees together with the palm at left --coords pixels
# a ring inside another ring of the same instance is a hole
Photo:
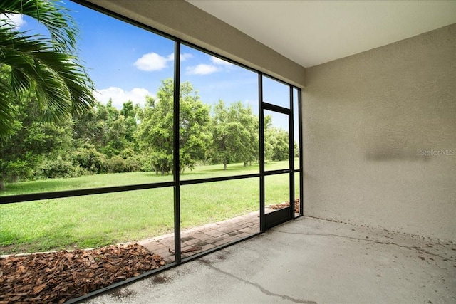
[[[9,14],[24,14],[49,37],[19,31]],[[0,1],[0,189],[4,182],[105,172],[172,172],[173,84],[163,80],[145,106],[121,110],[97,103],[78,61],[78,31],[57,2]],[[265,117],[265,157],[288,157],[288,132]],[[211,109],[190,83],[180,87],[180,171],[196,164],[259,159],[258,117],[242,103]],[[295,145],[296,151],[296,145]]]

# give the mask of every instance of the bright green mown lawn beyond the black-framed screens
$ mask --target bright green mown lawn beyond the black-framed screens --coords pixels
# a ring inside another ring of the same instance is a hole
[[[271,162],[266,169],[283,169]],[[201,166],[182,179],[258,172],[230,164]],[[169,176],[146,172],[100,174],[73,179],[48,179],[7,185],[2,195],[51,192],[64,189],[108,187],[169,181]],[[266,177],[266,204],[287,200],[288,175]],[[259,179],[192,184],[181,187],[181,227],[229,219],[259,208]],[[139,241],[173,229],[173,189],[165,187],[64,199],[0,205],[0,254],[58,249],[91,248],[124,241]]]

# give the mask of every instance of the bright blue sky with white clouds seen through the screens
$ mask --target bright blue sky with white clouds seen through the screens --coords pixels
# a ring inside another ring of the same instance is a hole
[[[63,6],[72,11],[78,24],[78,56],[95,83],[100,102],[112,98],[119,109],[128,100],[142,105],[145,95],[156,95],[161,80],[173,77],[174,41],[71,1],[64,1]],[[22,31],[43,33],[31,19],[15,16],[14,21]],[[190,81],[203,103],[241,101],[258,113],[257,73],[189,46],[181,47],[180,59],[181,82]],[[264,100],[287,105],[289,88],[266,79]],[[286,122],[279,117],[273,117],[274,124],[285,128]]]

